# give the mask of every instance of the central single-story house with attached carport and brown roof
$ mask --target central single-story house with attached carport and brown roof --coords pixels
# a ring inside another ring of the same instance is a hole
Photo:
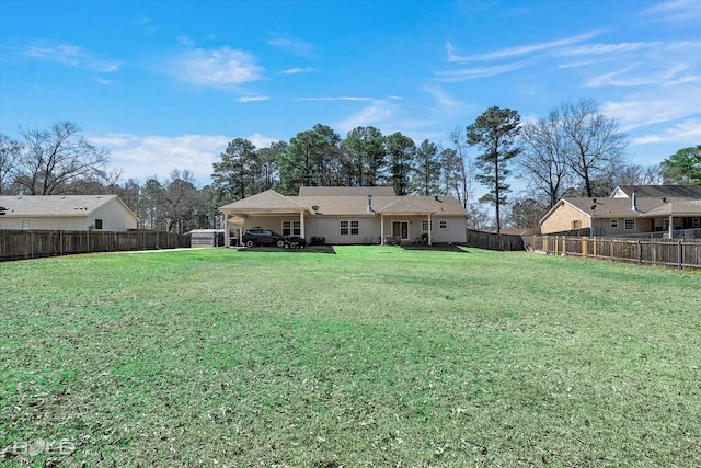
[[[468,214],[456,198],[398,196],[388,186],[301,187],[299,196],[268,190],[219,210],[239,236],[260,227],[332,244],[411,243],[422,235],[429,243],[467,239]]]

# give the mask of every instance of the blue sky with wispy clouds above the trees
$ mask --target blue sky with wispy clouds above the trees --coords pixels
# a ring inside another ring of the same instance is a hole
[[[449,146],[596,99],[633,163],[701,144],[701,1],[0,0],[0,133],[79,124],[124,176],[321,123]]]

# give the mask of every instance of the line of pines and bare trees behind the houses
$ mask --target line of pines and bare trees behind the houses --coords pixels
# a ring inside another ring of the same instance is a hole
[[[0,135],[0,194],[113,193],[139,217],[140,228],[175,232],[218,228],[219,206],[268,189],[296,195],[302,185],[391,185],[400,195],[451,195],[468,209],[469,227],[499,229],[537,227],[563,196],[606,196],[621,184],[701,184],[701,146],[683,148],[659,167],[631,163],[627,135],[588,99],[527,123],[517,111],[490,107],[456,127],[446,147],[372,126],[343,138],[322,124],[264,148],[234,138],[204,187],[187,169],[163,180],[122,181],[108,151],[88,142],[71,122],[46,130],[20,127],[20,137]],[[525,190],[509,198],[516,178]],[[480,198],[478,185],[486,190]]]

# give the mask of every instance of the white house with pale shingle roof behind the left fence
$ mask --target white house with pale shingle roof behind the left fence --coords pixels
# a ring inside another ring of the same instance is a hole
[[[126,231],[137,217],[117,195],[0,196],[0,229]]]

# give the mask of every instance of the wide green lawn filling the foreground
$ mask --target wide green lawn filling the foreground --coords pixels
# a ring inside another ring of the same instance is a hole
[[[701,466],[701,275],[469,250],[0,264],[0,464]]]

